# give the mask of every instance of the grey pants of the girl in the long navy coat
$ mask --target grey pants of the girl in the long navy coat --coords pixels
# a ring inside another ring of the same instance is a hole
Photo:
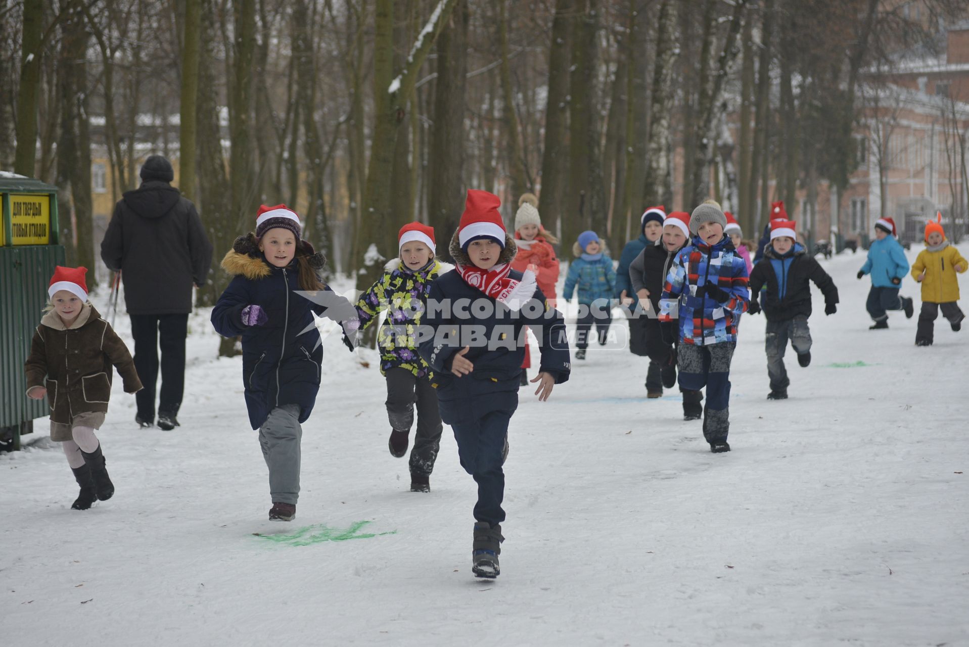
[[[299,498],[299,405],[288,404],[269,412],[259,428],[259,444],[269,468],[272,503],[293,504]]]

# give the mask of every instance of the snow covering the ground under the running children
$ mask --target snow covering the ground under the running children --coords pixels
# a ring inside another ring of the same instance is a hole
[[[840,310],[815,294],[814,360],[789,351],[787,401],[766,401],[765,320],[744,317],[730,453],[708,452],[678,392],[647,401],[623,349],[592,348],[547,403],[523,392],[496,581],[470,572],[476,488],[450,429],[433,491],[411,493],[374,354],[364,368],[336,335],[297,518],[264,521],[240,359],[216,358],[196,313],[181,427],[139,430],[114,383],[111,500],[70,509],[49,442],[0,457],[2,642],[969,644],[969,331],[940,319],[927,349],[901,313],[869,331],[861,262],[826,263]],[[918,309],[911,280],[902,293]]]

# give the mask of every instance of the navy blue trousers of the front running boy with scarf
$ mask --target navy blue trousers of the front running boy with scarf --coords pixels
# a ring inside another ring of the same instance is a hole
[[[501,502],[505,498],[505,472],[501,454],[508,437],[512,411],[492,411],[479,419],[452,424],[461,467],[478,483],[475,520],[492,526],[505,520]]]

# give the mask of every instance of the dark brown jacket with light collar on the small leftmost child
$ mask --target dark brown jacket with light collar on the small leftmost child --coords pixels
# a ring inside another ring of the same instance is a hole
[[[111,366],[126,393],[141,390],[128,347],[94,306],[85,304],[70,328],[51,310],[34,330],[24,363],[27,390],[46,386],[50,421],[70,425],[78,414],[108,412]]]

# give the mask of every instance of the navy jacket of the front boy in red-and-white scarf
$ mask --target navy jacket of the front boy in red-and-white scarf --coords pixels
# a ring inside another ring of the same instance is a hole
[[[457,264],[472,264],[456,236],[450,251]],[[515,255],[515,241],[506,235],[505,249],[498,262],[511,262]],[[510,276],[520,280],[522,275],[512,270]],[[448,424],[469,423],[494,411],[509,415],[515,411],[518,376],[525,355],[524,347],[517,341],[523,338],[526,324],[542,341],[540,370],[554,376],[556,384],[569,379],[565,322],[548,305],[541,290],[536,289],[532,300],[513,313],[504,304],[469,286],[455,270],[442,274],[431,284],[427,299],[419,352],[434,371],[441,417]],[[485,310],[490,314],[475,316],[476,309],[471,304],[486,305]],[[484,343],[470,341],[467,335],[472,333],[479,340],[485,340]],[[475,368],[471,374],[457,378],[451,372],[451,365],[454,354],[464,346],[471,347],[465,357]]]

